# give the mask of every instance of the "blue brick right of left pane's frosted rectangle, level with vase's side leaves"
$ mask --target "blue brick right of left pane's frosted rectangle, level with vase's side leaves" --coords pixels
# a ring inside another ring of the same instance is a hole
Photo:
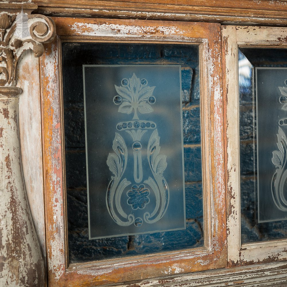
[[[202,181],[201,147],[184,148],[185,181]]]

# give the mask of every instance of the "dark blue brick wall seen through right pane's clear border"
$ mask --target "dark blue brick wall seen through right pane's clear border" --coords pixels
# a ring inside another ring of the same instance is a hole
[[[246,56],[254,67],[287,67],[286,49],[240,49],[243,55],[239,56],[243,59]],[[257,223],[257,155],[256,134],[255,138],[253,135],[253,91],[251,82],[252,79],[246,79],[246,83],[250,83],[250,85],[240,88],[239,99],[242,243],[287,237],[287,220]],[[255,145],[253,144],[253,139],[255,140]]]

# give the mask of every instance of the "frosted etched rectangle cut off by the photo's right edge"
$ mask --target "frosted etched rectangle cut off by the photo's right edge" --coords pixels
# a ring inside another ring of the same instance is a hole
[[[255,68],[258,222],[287,219],[287,69]]]

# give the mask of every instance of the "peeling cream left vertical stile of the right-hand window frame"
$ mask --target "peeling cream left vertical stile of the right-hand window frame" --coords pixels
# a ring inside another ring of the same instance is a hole
[[[226,216],[227,224],[227,250],[228,260],[238,259],[240,242],[240,179],[239,179],[239,99],[238,93],[238,51],[236,32],[233,26],[224,26],[222,31],[222,69],[223,69],[223,96],[224,129],[226,131],[225,169],[226,169]],[[226,35],[232,35],[227,37]],[[231,65],[231,63],[233,65]],[[230,96],[232,94],[232,96]],[[236,119],[237,129],[228,127],[227,119]],[[233,139],[233,140],[232,140]]]

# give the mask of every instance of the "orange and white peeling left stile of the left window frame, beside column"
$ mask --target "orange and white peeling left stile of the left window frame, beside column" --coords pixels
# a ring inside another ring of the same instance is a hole
[[[46,252],[49,272],[55,275],[55,280],[65,270],[66,249],[57,41],[56,38],[45,47],[40,59]]]

